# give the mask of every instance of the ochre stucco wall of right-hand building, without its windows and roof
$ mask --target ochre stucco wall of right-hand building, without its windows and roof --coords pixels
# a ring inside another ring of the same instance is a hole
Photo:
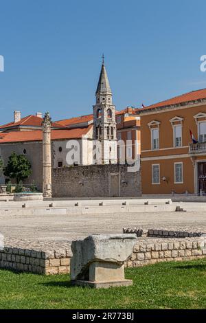
[[[185,191],[192,194],[195,193],[194,167],[188,153],[189,144],[192,142],[190,129],[194,136],[198,138],[198,126],[194,115],[200,112],[206,113],[205,104],[198,107],[179,107],[170,111],[141,115],[141,179],[143,194],[171,194],[172,190],[179,194]],[[173,146],[173,129],[170,119],[174,117],[183,118],[183,147],[181,148],[174,148]],[[148,123],[152,120],[160,122],[159,150],[157,151],[151,150],[151,136]],[[145,158],[150,158],[150,160],[145,160]],[[195,159],[205,159],[206,162],[206,155],[196,156]],[[183,183],[174,183],[175,162],[183,162]],[[152,164],[160,164],[160,184],[152,184]],[[168,183],[163,181],[162,177],[167,177]]]

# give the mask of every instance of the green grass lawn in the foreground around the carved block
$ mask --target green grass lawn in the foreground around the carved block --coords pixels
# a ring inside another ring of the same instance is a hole
[[[0,309],[205,309],[206,259],[126,269],[131,287],[71,287],[67,275],[0,270]]]

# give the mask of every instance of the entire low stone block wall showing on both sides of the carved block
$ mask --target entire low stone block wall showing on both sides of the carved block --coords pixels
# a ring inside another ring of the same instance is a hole
[[[205,258],[205,238],[140,238],[126,267]],[[71,249],[40,251],[16,247],[0,250],[0,268],[35,274],[69,274]]]

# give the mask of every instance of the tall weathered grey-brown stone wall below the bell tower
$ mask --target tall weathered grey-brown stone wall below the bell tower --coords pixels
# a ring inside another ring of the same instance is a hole
[[[53,197],[138,197],[141,172],[126,165],[91,165],[52,169]]]

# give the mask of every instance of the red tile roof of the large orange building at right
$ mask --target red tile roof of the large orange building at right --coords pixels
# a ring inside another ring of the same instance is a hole
[[[161,101],[156,104],[149,105],[148,107],[144,107],[142,109],[136,109],[136,112],[150,110],[150,109],[156,109],[161,107],[168,107],[170,105],[174,104],[180,104],[183,102],[190,102],[190,101],[196,101],[206,98],[206,89],[196,90],[192,92],[188,92],[185,94],[182,94],[181,96],[175,96],[174,98],[171,98],[169,100]]]

